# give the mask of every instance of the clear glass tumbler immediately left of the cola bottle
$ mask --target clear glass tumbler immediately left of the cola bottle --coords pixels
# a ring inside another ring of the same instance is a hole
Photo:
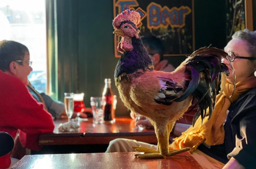
[[[103,123],[104,111],[102,97],[91,97],[90,100],[93,113],[93,123]]]

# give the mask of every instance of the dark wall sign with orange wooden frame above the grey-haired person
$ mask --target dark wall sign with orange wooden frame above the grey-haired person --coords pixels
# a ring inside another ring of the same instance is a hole
[[[252,28],[252,0],[226,0],[226,42],[236,31]]]

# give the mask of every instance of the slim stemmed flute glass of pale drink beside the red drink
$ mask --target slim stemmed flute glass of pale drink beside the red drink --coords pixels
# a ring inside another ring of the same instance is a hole
[[[74,113],[74,93],[64,93],[64,105],[68,121],[70,121]]]

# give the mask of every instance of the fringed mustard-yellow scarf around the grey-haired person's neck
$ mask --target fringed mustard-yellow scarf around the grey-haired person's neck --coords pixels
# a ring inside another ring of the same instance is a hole
[[[236,101],[241,94],[250,88],[256,87],[256,77],[250,77],[244,81],[236,83],[236,90],[230,98],[234,90],[234,85],[226,83],[224,92],[217,95],[217,102],[212,117],[210,120],[204,118],[203,123],[199,117],[196,120],[195,126],[188,128],[186,132],[174,139],[170,145],[170,149],[180,149],[190,147],[190,152],[193,152],[198,145],[206,143],[208,145],[218,145],[224,143],[224,121],[226,120],[226,112],[230,104]],[[207,112],[209,109],[207,109]]]

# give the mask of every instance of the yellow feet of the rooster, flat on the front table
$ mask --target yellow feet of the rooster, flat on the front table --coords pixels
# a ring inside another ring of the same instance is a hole
[[[190,147],[186,147],[186,148],[182,148],[182,149],[170,150],[169,153],[167,153],[166,155],[162,155],[159,152],[159,150],[150,149],[150,148],[143,147],[143,146],[140,146],[140,147],[133,146],[132,148],[135,149],[135,151],[137,151],[137,152],[144,152],[144,154],[135,154],[135,157],[143,158],[143,159],[163,158],[164,156],[170,157],[172,155],[180,154],[180,153],[190,150]]]

